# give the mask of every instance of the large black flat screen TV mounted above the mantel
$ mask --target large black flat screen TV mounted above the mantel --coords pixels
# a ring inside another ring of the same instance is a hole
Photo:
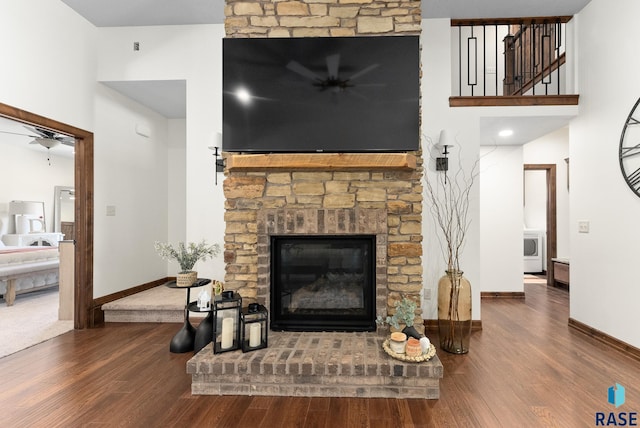
[[[228,152],[418,150],[418,36],[223,39]]]

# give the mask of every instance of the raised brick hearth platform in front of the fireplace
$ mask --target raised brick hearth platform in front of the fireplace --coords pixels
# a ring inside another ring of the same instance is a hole
[[[211,344],[187,362],[194,395],[437,399],[443,368],[406,363],[382,349],[376,332],[269,332],[269,346],[213,354]]]

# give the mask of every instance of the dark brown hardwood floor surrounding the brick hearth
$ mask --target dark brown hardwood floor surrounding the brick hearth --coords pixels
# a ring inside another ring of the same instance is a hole
[[[438,352],[439,400],[192,396],[191,355],[169,353],[178,325],[109,324],[0,359],[0,426],[588,427],[640,412],[640,362],[570,329],[566,291],[525,293],[483,301],[469,354]]]

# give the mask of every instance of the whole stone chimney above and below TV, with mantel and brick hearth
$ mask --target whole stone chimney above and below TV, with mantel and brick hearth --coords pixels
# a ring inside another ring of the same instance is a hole
[[[232,1],[227,37],[420,33],[420,1]],[[376,236],[376,314],[422,290],[422,153],[225,154],[225,288],[270,303],[270,236]],[[420,305],[418,304],[418,308]],[[421,311],[415,326],[422,329]],[[267,349],[187,364],[194,394],[438,398],[442,365],[384,353],[382,332],[270,332]]]

